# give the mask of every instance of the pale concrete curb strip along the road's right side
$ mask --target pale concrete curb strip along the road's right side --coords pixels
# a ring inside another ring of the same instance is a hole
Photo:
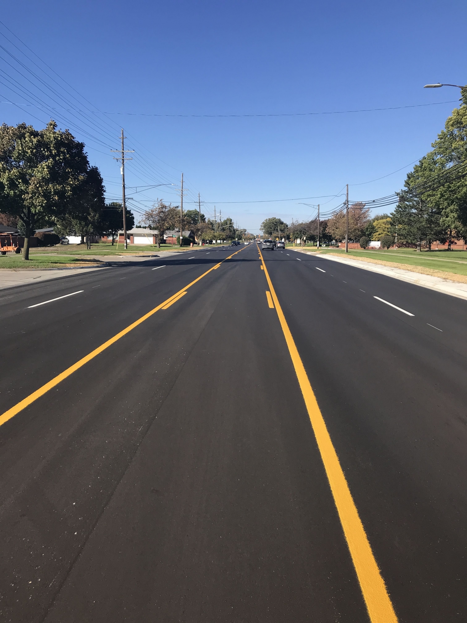
[[[310,253],[307,255],[315,254]],[[451,297],[458,297],[467,300],[467,283],[450,281],[449,279],[433,277],[432,275],[422,275],[422,273],[415,273],[410,270],[397,268],[393,269],[390,266],[370,264],[369,262],[364,262],[364,260],[351,260],[350,258],[334,257],[325,254],[319,254],[319,258],[324,258],[326,260],[330,260],[331,262],[340,262],[341,264],[354,266],[357,269],[370,270],[371,272],[376,272],[380,275],[386,275],[386,277],[400,279],[401,281],[420,285],[422,288],[430,288],[430,290],[436,290],[436,292],[449,294]]]

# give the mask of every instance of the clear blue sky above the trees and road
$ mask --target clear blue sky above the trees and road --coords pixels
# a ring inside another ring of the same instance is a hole
[[[262,115],[403,107],[460,97],[448,87],[424,90],[425,83],[467,83],[465,0],[17,0],[4,4],[0,19],[93,107],[108,113]],[[0,32],[12,39],[1,26]],[[39,97],[39,83],[31,87],[6,64],[11,57],[1,50],[0,55],[0,100],[27,101],[5,86],[6,74]],[[47,97],[49,107],[58,107]],[[60,115],[72,118],[64,110],[54,116],[86,142],[109,199],[120,197],[120,169],[108,148],[112,136],[118,148],[123,126],[128,146],[136,150],[127,184],[176,184],[138,194],[130,189],[139,201],[134,207],[144,209],[156,197],[178,203],[184,171],[186,207],[199,192],[207,216],[214,215],[215,203],[223,217],[258,232],[268,216],[290,222],[314,214],[298,200],[263,200],[323,196],[306,202],[319,202],[325,211],[342,197],[324,196],[342,193],[346,183],[354,200],[398,190],[410,169],[406,165],[430,149],[455,105],[295,117],[94,115],[93,136],[101,143],[78,130],[82,119],[67,123]],[[0,106],[9,124],[39,127],[34,117],[50,118],[50,111]],[[240,201],[257,202],[228,203]]]

